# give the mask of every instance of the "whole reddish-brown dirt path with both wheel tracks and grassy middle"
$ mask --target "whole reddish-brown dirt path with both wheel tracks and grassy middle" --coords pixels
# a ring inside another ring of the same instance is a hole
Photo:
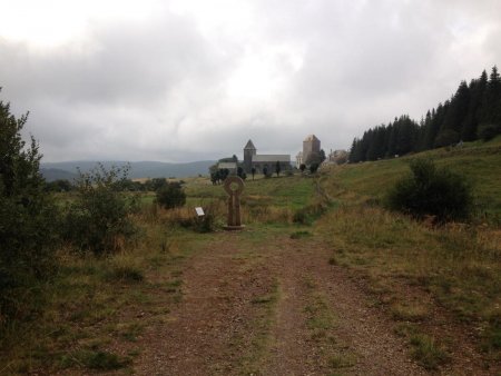
[[[183,299],[143,336],[136,374],[424,373],[328,249],[258,236],[218,235],[188,263]]]

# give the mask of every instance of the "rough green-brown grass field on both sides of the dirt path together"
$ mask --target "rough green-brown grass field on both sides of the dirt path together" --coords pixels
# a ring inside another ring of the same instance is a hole
[[[472,224],[432,227],[379,205],[415,157],[433,158],[474,185],[480,209]],[[174,210],[157,208],[155,195],[144,194],[143,210],[135,218],[141,236],[119,254],[95,258],[61,249],[61,267],[48,287],[49,306],[37,320],[22,329],[13,325],[1,338],[0,374],[130,372],[141,352],[137,336],[151,323],[168,320],[169,307],[183,299],[183,266],[213,241],[212,234],[188,226],[194,208],[204,206],[217,228],[225,222],[227,196],[222,186],[194,178],[186,179],[185,190],[185,208]],[[374,305],[399,323],[399,334],[409,339],[424,367],[446,362],[448,346],[454,343],[454,333],[433,330],[434,320],[443,318],[436,307],[469,328],[487,363],[500,362],[500,138],[459,150],[334,167],[316,177],[247,179],[242,204],[243,221],[256,229],[242,235],[249,245],[284,230],[328,245],[330,263],[366,281]],[[294,222],[297,218],[302,227]],[[166,300],[158,301],[158,289],[168,299],[161,295]],[[321,298],[308,308],[313,329],[332,321]],[[141,307],[140,319],[131,307]]]

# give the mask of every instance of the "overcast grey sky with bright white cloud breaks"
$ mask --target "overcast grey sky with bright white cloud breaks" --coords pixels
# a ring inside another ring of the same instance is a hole
[[[43,161],[348,149],[501,65],[499,0],[0,0],[0,100]]]

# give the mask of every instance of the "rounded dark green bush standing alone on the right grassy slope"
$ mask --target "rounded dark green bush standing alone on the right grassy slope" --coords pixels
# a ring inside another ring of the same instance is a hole
[[[397,181],[387,196],[387,206],[418,219],[434,216],[435,221],[468,219],[473,196],[470,185],[461,176],[436,169],[433,161],[411,161],[411,174]]]

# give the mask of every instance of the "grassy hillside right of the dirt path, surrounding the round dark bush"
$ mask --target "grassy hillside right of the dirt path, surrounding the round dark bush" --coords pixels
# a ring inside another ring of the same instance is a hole
[[[432,158],[473,184],[480,208],[473,222],[433,227],[383,209],[411,158]],[[445,362],[443,354],[460,335],[436,329],[444,317],[474,333],[485,365],[501,360],[501,138],[334,167],[322,186],[338,204],[316,226],[333,246],[332,263],[366,280],[425,367]]]

